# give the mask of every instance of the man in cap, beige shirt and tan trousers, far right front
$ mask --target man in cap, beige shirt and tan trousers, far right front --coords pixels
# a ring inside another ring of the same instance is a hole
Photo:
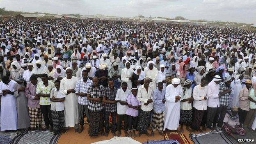
[[[242,124],[245,121],[246,115],[250,110],[250,101],[253,101],[253,99],[249,96],[251,85],[252,85],[251,80],[246,80],[245,88],[241,89],[239,93],[238,116],[239,116],[240,127],[242,127]]]

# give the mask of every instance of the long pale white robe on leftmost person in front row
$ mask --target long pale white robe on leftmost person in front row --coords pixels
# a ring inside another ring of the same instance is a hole
[[[11,80],[8,85],[0,82],[0,95],[3,94],[2,90],[8,89],[14,91],[16,82]],[[1,131],[4,130],[17,130],[18,129],[18,116],[16,110],[16,98],[14,95],[6,94],[1,97]]]

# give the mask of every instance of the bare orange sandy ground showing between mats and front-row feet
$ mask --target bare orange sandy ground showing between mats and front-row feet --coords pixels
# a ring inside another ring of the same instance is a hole
[[[58,144],[91,144],[93,142],[98,142],[102,140],[111,139],[113,136],[111,132],[109,133],[108,137],[99,135],[98,137],[90,137],[88,134],[88,125],[84,127],[84,130],[82,133],[75,133],[75,130],[73,128],[70,128],[67,133],[62,134],[59,138]],[[207,129],[206,132],[210,131]],[[150,131],[149,131],[150,133]],[[199,132],[197,132],[199,133]],[[189,132],[184,127],[184,134],[186,135],[187,139],[190,141],[191,144],[193,142],[189,138]],[[125,136],[123,130],[121,131],[121,136]],[[140,137],[135,137],[135,140],[143,143],[147,142],[148,140],[161,140],[164,139],[163,136],[161,136],[157,131],[155,132],[154,137],[147,137],[146,135],[141,135]]]

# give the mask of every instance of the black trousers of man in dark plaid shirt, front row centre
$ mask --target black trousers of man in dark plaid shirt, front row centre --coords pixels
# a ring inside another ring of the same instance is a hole
[[[104,119],[105,119],[105,132],[109,133],[109,116],[111,114],[111,118],[112,118],[112,125],[111,125],[111,133],[115,133],[116,132],[116,117],[117,117],[117,112],[104,112]]]

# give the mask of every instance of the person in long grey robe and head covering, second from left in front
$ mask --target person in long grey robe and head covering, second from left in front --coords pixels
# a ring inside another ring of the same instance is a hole
[[[18,129],[26,129],[30,127],[30,117],[27,107],[27,97],[25,96],[26,82],[22,75],[15,78],[14,97],[16,97],[16,109],[18,114]]]

